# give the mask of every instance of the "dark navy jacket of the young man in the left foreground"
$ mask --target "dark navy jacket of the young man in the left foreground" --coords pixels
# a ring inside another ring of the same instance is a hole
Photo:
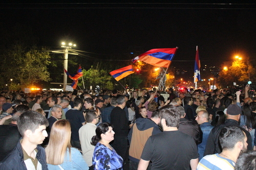
[[[38,151],[36,153],[36,159],[42,165],[42,170],[47,170],[48,167],[46,163],[45,149],[40,145],[37,145],[36,149]],[[27,170],[26,164],[24,162],[22,144],[20,144],[20,141],[17,143],[17,146],[14,148],[14,150],[2,162],[0,162],[0,169]]]

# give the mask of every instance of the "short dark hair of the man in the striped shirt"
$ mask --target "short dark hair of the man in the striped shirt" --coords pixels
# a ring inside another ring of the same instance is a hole
[[[245,134],[243,130],[236,126],[224,127],[219,136],[222,150],[232,150],[237,142],[244,143]]]

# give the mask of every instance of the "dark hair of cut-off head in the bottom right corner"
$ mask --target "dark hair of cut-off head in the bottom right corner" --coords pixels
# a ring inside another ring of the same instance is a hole
[[[237,162],[235,170],[256,170],[256,152],[247,151],[242,153]]]

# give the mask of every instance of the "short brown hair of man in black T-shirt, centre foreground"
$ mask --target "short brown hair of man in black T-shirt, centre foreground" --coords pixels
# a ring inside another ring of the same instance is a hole
[[[166,105],[159,109],[161,119],[165,119],[167,127],[179,127],[180,112],[173,105]]]

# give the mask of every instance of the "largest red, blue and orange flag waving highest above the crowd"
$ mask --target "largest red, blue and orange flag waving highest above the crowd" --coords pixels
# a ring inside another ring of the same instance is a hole
[[[157,67],[168,67],[176,53],[176,48],[156,48],[135,57],[132,62],[137,60]]]

